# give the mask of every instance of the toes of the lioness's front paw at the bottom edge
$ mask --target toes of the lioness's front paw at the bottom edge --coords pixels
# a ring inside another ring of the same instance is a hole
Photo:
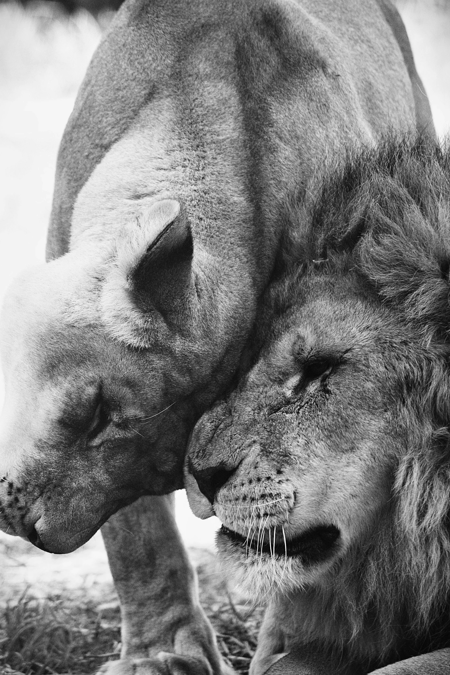
[[[108,661],[97,675],[213,675],[213,669],[206,659],[161,651],[149,659]]]

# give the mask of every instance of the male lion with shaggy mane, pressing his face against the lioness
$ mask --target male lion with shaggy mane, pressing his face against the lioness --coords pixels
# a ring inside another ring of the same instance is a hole
[[[296,649],[292,672],[360,674],[450,646],[450,147],[350,157],[291,223],[256,362],[194,429],[190,499],[273,596],[250,673]]]

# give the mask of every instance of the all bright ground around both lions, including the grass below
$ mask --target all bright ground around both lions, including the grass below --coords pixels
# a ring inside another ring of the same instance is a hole
[[[442,136],[450,129],[446,0],[402,0],[418,72]],[[0,300],[20,269],[43,261],[59,139],[92,51],[111,20],[72,18],[56,3],[0,3]],[[1,404],[0,383],[0,404]],[[245,604],[217,565],[217,519],[200,521],[177,494],[177,522],[198,570],[219,647],[247,673],[262,608]],[[0,674],[94,673],[117,658],[119,607],[101,536],[52,556],[0,533]]]

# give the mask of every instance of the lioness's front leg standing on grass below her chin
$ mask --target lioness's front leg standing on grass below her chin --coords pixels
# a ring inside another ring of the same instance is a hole
[[[101,531],[122,617],[121,659],[103,670],[110,675],[223,673],[175,523],[173,495],[141,497]]]

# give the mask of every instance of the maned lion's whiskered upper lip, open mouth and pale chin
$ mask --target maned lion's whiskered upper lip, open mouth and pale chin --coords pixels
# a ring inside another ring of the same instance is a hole
[[[217,547],[227,571],[246,595],[258,601],[320,583],[340,548],[337,528],[305,523],[301,530],[293,524],[296,494],[289,481],[274,479],[272,485],[262,485],[253,491],[248,481],[241,490],[224,485],[214,503],[223,522]],[[331,530],[332,541],[324,544]]]

